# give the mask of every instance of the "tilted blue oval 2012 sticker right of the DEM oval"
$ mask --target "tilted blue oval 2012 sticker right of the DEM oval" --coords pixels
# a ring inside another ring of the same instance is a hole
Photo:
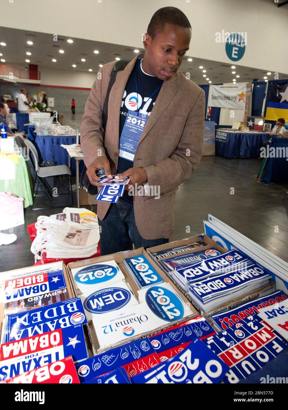
[[[160,319],[173,322],[184,316],[181,299],[165,287],[150,287],[147,289],[145,300],[150,310]]]

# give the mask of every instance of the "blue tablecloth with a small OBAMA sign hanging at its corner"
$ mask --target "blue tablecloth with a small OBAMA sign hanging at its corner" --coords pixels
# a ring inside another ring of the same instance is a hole
[[[215,154],[226,158],[259,157],[263,141],[269,133],[215,131]]]

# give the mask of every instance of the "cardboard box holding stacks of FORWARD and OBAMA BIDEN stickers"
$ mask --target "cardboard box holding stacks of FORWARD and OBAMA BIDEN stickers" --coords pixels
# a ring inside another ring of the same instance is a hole
[[[255,289],[254,291],[249,292],[245,294],[244,296],[240,296],[239,298],[236,298],[228,303],[225,303],[224,305],[216,307],[214,310],[211,310],[210,312],[208,312],[208,314],[204,314],[204,312],[202,312],[200,307],[195,304],[193,299],[190,298],[190,296],[184,291],[184,289],[181,286],[179,286],[178,283],[175,282],[175,280],[172,278],[172,276],[164,270],[163,266],[159,263],[159,260],[157,260],[156,257],[153,256],[153,253],[155,252],[163,251],[163,253],[165,253],[165,251],[168,249],[177,248],[178,246],[193,244],[194,242],[197,242],[197,241],[204,241],[207,244],[207,246],[201,246],[193,250],[191,249],[190,251],[181,253],[181,255],[186,255],[187,253],[190,253],[190,252],[205,251],[206,249],[209,249],[209,248],[216,248],[221,253],[228,252],[227,249],[217,244],[215,241],[213,241],[213,239],[211,239],[206,234],[203,234],[203,236],[193,236],[193,237],[189,237],[186,239],[180,239],[178,241],[169,242],[168,244],[153,246],[152,248],[147,248],[146,251],[150,255],[150,257],[156,262],[156,264],[159,266],[159,269],[161,269],[161,271],[163,271],[163,273],[169,278],[170,282],[172,282],[177,287],[177,289],[188,299],[188,301],[195,307],[195,309],[198,312],[200,312],[200,314],[202,314],[202,316],[204,316],[209,321],[209,323],[212,323],[211,314],[215,314],[216,312],[220,312],[223,310],[233,309],[234,307],[238,305],[242,305],[243,303],[259,298],[261,295],[272,292],[271,290],[272,282],[270,281],[270,284],[259,287],[258,289]],[[170,257],[177,256],[177,255],[179,255],[179,253],[175,255],[168,255],[166,257],[161,258],[161,260],[166,260],[166,259],[169,259]]]

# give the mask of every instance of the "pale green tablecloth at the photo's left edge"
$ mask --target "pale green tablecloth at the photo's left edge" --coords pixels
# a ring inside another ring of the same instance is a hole
[[[12,192],[18,198],[24,198],[23,207],[27,208],[29,205],[33,205],[32,183],[23,155],[18,153],[17,156],[18,164],[14,163],[15,178],[0,180],[0,192]],[[0,156],[0,161],[5,162],[7,160],[11,161],[11,159]]]

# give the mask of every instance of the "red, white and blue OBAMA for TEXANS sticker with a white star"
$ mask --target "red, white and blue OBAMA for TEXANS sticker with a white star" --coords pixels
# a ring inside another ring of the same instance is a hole
[[[0,380],[32,371],[46,364],[72,356],[87,357],[82,326],[52,330],[0,346]]]

